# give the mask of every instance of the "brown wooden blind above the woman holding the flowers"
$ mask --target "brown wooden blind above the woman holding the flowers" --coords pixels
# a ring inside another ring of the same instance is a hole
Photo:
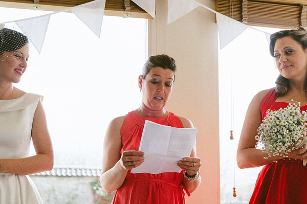
[[[307,1],[215,0],[215,11],[250,26],[306,27]]]

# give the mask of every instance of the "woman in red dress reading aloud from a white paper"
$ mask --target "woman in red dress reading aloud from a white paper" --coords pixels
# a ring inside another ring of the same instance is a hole
[[[201,160],[196,157],[195,143],[190,156],[177,163],[182,169],[180,173],[130,172],[146,159],[144,153],[138,151],[145,120],[172,127],[193,127],[190,120],[164,108],[172,92],[176,70],[173,58],[150,56],[138,80],[142,90],[140,107],[115,118],[106,130],[100,182],[107,193],[116,191],[114,204],[182,204],[186,203],[183,189],[189,195],[201,183]]]

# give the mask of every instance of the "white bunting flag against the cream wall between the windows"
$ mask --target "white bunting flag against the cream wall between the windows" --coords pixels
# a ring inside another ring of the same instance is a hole
[[[201,6],[194,0],[168,0],[167,24],[184,16],[196,7]]]

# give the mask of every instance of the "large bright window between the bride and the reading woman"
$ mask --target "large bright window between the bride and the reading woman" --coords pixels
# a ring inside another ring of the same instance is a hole
[[[50,12],[0,8],[0,13],[1,23]],[[141,103],[146,32],[146,19],[104,16],[99,38],[73,13],[62,12],[51,15],[41,53],[30,48],[27,71],[15,85],[44,96],[55,172],[32,176],[44,203],[94,199],[91,183],[95,186],[101,168],[106,127]]]

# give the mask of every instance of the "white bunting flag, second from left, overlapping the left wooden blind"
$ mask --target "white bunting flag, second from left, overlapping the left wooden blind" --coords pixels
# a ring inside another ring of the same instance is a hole
[[[71,11],[98,37],[100,37],[105,0],[95,0],[71,8]]]

